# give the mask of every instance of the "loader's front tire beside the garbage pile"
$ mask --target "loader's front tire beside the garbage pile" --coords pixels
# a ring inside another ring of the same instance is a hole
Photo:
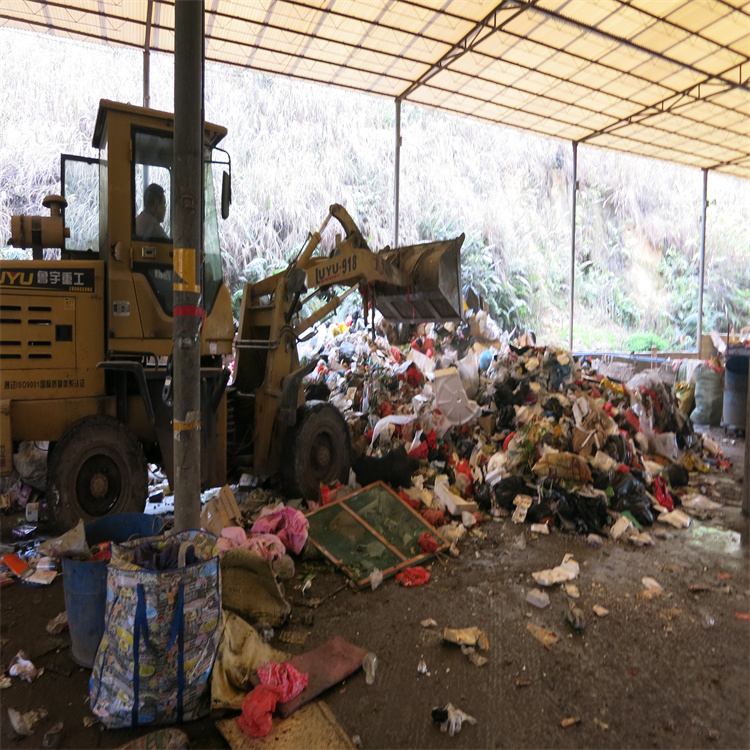
[[[297,414],[284,446],[284,485],[287,493],[320,499],[320,485],[346,482],[351,464],[351,438],[341,412],[323,402],[309,401]]]

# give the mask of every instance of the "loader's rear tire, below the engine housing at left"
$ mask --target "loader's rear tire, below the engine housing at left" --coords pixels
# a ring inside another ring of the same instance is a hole
[[[148,469],[135,435],[113,417],[76,422],[58,441],[47,469],[47,498],[57,525],[93,521],[110,513],[140,513]]]

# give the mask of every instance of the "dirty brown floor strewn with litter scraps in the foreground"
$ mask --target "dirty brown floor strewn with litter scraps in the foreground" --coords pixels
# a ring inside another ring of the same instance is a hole
[[[321,558],[298,559],[286,584],[292,615],[286,628],[276,629],[272,645],[297,654],[342,636],[377,655],[373,685],[359,671],[323,696],[363,748],[747,747],[744,443],[720,430],[712,434],[731,468],[693,473],[691,484],[721,509],[694,517],[687,529],[656,524],[654,546],[605,539],[597,549],[585,536],[554,528],[542,536],[498,519],[480,527],[484,538],[463,539],[458,557],[434,560],[427,585],[403,588],[391,578],[375,591],[346,587],[344,576]],[[559,565],[566,554],[580,565],[573,583],[585,618],[581,632],[566,621],[560,585],[546,589],[548,607],[526,602],[537,587],[532,572]],[[645,577],[662,593],[644,595]],[[115,748],[148,731],[86,726],[90,671],[72,661],[67,633],[52,636],[45,629],[64,610],[60,577],[48,587],[15,582],[0,596],[3,673],[21,649],[44,669],[31,684],[14,677],[0,691],[2,747],[42,747],[45,733],[60,721],[62,734],[47,738],[52,746],[57,739],[61,747]],[[594,606],[608,614],[598,616]],[[423,627],[428,618],[437,626]],[[545,647],[529,625],[559,640]],[[489,650],[479,653],[487,663],[475,666],[459,646],[444,641],[444,627],[481,629]],[[283,642],[284,629],[303,634],[304,644]],[[422,661],[426,673],[418,670]],[[476,719],[453,737],[431,717],[434,707],[449,702]],[[8,708],[45,709],[47,715],[31,736],[19,738]],[[570,726],[563,727],[565,720]],[[192,747],[228,746],[210,719],[182,728]]]

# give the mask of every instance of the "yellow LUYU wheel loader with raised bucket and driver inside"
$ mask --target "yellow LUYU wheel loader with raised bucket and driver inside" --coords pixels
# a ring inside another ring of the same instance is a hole
[[[19,441],[49,441],[47,497],[63,528],[143,510],[147,461],[173,477],[173,135],[169,113],[102,100],[99,158],[63,155],[50,215],[11,218],[10,244],[32,259],[0,261],[0,473]],[[373,252],[333,205],[283,272],[245,286],[235,334],[218,232],[231,190],[225,135],[205,124],[201,482],[224,483],[229,455],[317,497],[321,482],[347,478],[349,434],[333,405],[305,403],[314,363],[300,366],[297,342],[357,289],[392,321],[460,320],[463,235]],[[344,236],[324,253],[332,218]]]

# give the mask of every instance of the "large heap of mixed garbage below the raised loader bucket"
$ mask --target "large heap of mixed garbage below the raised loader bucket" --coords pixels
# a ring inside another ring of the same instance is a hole
[[[318,357],[308,393],[328,397],[352,436],[349,486],[323,488],[321,502],[381,480],[452,526],[449,541],[491,514],[649,544],[655,521],[689,524],[689,472],[727,466],[658,371],[610,380],[532,337],[514,342],[483,312],[419,325],[401,347],[382,327],[338,323],[301,354]]]

